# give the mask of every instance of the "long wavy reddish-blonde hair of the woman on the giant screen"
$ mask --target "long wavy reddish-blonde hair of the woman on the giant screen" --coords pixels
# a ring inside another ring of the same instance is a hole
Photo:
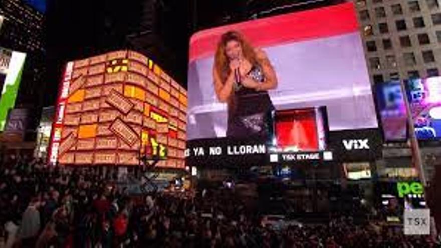
[[[227,43],[229,43],[230,41],[236,41],[241,45],[242,53],[245,59],[247,59],[252,65],[260,64],[254,48],[240,32],[228,31],[227,33],[224,33],[217,43],[217,49],[214,55],[214,69],[216,70],[217,75],[219,75],[220,80],[223,84],[225,84],[228,76],[231,73],[230,60],[227,57],[226,53]],[[229,107],[236,109],[234,97],[230,97],[228,103]]]

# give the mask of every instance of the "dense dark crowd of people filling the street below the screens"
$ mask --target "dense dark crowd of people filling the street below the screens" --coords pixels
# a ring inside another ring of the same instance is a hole
[[[114,173],[18,160],[0,167],[3,247],[438,247],[429,236],[341,217],[273,228],[241,199],[130,195]]]

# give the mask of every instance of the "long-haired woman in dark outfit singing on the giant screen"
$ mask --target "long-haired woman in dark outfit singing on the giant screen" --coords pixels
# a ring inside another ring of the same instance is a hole
[[[217,99],[228,103],[227,136],[268,140],[274,110],[268,90],[277,87],[277,77],[265,52],[253,48],[237,31],[223,34],[213,80]]]

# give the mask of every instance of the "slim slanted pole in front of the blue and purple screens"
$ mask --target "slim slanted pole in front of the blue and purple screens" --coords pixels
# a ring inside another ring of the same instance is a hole
[[[400,80],[401,92],[403,93],[404,106],[406,108],[407,126],[409,127],[409,140],[410,148],[412,149],[412,158],[415,163],[415,167],[418,170],[419,180],[421,181],[424,189],[427,187],[427,179],[425,178],[424,168],[422,165],[421,151],[419,150],[418,139],[415,135],[415,126],[413,123],[412,113],[410,112],[410,103],[407,99],[407,93],[404,86],[404,80]],[[424,194],[425,198],[425,194]]]

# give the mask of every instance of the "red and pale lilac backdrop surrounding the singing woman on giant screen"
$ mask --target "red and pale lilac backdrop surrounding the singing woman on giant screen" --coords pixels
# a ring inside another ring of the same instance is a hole
[[[242,32],[268,55],[278,77],[277,110],[327,106],[330,130],[377,127],[362,41],[351,3],[218,27],[190,40],[187,139],[224,137],[227,106],[212,66],[219,37]]]

